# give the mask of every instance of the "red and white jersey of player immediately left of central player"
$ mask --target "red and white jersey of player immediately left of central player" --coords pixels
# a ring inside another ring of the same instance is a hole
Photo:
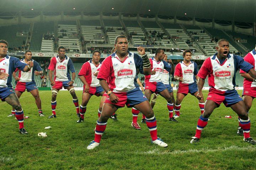
[[[94,73],[100,69],[101,63],[98,64],[98,66],[95,66],[92,60],[87,61],[82,65],[82,68],[78,75],[82,75],[85,77],[86,82],[91,87],[98,87],[100,86],[100,80],[97,79],[97,77],[94,75]]]

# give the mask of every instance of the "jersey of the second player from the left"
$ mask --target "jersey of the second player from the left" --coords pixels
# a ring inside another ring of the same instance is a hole
[[[20,69],[16,69],[15,72],[19,71],[18,77],[20,78],[20,82],[30,82],[34,81],[34,72],[37,70],[38,72],[42,71],[42,68],[39,66],[38,62],[31,60],[34,63],[32,69],[28,72],[22,72]],[[21,60],[22,63],[25,63],[24,58]],[[26,64],[26,63],[25,63]]]

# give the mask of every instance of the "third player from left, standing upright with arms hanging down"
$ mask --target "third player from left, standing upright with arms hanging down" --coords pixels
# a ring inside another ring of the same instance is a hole
[[[58,95],[59,90],[62,89],[62,87],[64,87],[64,89],[67,89],[70,92],[76,107],[76,115],[80,117],[78,98],[76,97],[75,89],[73,86],[76,76],[75,68],[72,60],[68,56],[66,56],[65,53],[65,47],[60,46],[58,48],[58,56],[52,58],[52,60],[50,61],[50,65],[48,67],[50,84],[52,85],[52,115],[48,118],[56,118],[56,97]],[[72,79],[70,78],[69,71],[71,71],[72,73]]]

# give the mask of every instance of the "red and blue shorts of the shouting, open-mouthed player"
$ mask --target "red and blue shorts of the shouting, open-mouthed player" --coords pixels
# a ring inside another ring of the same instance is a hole
[[[242,101],[242,98],[235,89],[220,91],[210,88],[207,100],[214,101],[217,107],[219,107],[221,103],[224,103],[226,107],[230,107],[231,105]]]

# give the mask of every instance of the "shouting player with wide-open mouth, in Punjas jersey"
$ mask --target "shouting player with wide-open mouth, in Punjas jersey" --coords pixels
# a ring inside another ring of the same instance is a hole
[[[204,79],[208,75],[210,86],[209,94],[204,107],[204,113],[197,122],[196,135],[192,137],[190,143],[198,142],[203,128],[207,125],[208,119],[216,107],[224,103],[226,107],[231,107],[240,119],[240,126],[244,130],[244,141],[253,145],[256,141],[250,137],[251,122],[247,114],[245,103],[235,90],[235,74],[238,69],[243,70],[252,78],[256,78],[253,66],[244,61],[240,56],[229,54],[229,42],[220,39],[216,46],[217,53],[207,58],[198,72],[198,97],[202,97]]]

